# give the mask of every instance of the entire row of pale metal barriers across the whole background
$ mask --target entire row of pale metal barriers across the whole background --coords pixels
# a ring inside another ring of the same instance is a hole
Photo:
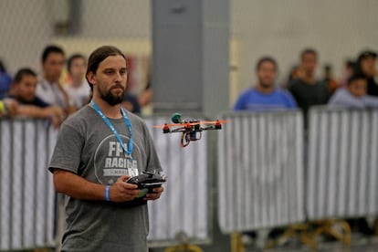
[[[378,111],[310,110],[306,148],[299,111],[222,118],[230,122],[217,132],[215,209],[224,233],[378,213]],[[208,241],[208,142],[204,134],[181,148],[179,134],[152,128],[167,120],[146,119],[168,175],[162,198],[150,203],[149,241],[172,244],[179,232]],[[57,131],[45,121],[6,120],[0,131],[0,250],[55,246],[47,163]]]

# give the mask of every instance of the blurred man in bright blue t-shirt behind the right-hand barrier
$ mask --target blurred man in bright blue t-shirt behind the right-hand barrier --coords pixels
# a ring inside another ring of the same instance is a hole
[[[289,91],[275,85],[278,66],[274,58],[264,57],[257,61],[257,83],[242,92],[234,110],[270,111],[297,109],[297,103]]]

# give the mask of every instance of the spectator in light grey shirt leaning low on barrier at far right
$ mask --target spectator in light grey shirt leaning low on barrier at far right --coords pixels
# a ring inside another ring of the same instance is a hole
[[[363,75],[354,75],[344,89],[336,90],[328,104],[351,109],[378,108],[378,97],[367,95],[366,92],[366,78]]]

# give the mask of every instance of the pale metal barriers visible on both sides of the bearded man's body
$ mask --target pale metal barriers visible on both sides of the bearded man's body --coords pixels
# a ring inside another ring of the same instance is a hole
[[[159,201],[149,203],[152,244],[172,244],[179,232],[195,242],[209,240],[207,142],[180,147],[179,134],[163,135],[147,119],[168,182]],[[55,247],[56,202],[47,163],[58,131],[46,121],[0,121],[0,250]],[[59,216],[64,217],[64,216]]]

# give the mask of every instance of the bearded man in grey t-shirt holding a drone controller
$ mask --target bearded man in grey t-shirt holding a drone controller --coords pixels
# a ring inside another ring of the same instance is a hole
[[[66,194],[62,251],[147,251],[147,201],[130,176],[162,167],[146,124],[121,107],[127,82],[125,56],[99,47],[89,56],[92,100],[62,124],[48,169]],[[120,162],[121,161],[121,162]]]

